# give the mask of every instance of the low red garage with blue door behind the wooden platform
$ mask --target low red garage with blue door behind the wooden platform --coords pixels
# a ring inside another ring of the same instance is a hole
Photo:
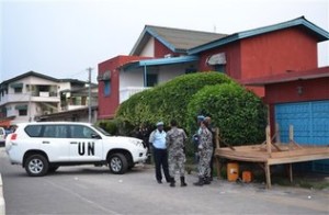
[[[270,124],[272,128],[279,124],[282,142],[288,142],[288,127],[293,125],[296,143],[329,146],[329,67],[253,78],[243,83],[264,87]],[[313,171],[329,172],[329,160],[307,165]]]

